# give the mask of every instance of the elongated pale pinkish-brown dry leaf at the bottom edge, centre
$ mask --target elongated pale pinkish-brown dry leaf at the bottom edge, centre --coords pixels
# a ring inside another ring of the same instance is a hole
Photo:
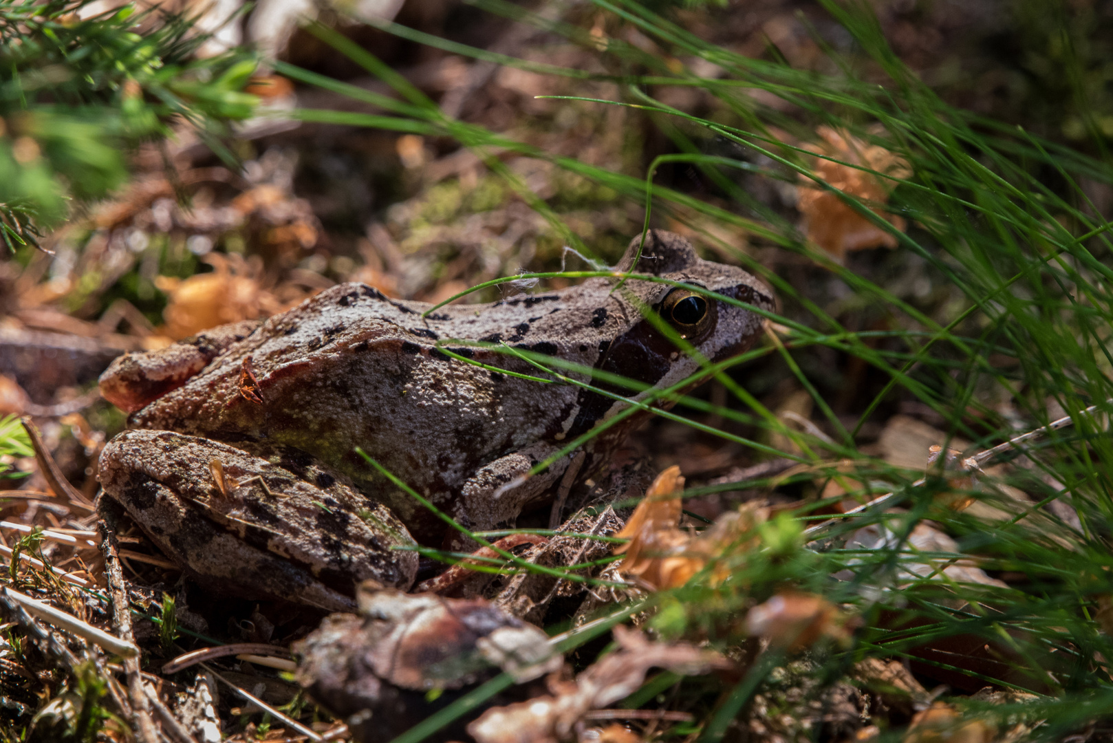
[[[636,692],[650,668],[700,675],[729,668],[730,662],[687,644],[653,643],[637,629],[614,627],[619,649],[604,656],[573,683],[559,683],[552,695],[492,707],[467,725],[477,743],[555,742],[591,710],[605,707]]]

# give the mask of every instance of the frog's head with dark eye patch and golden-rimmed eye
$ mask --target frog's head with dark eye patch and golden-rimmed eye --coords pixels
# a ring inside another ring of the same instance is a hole
[[[684,284],[631,277],[612,294],[627,305],[626,320],[612,331],[613,340],[601,345],[595,368],[656,388],[684,380],[695,383],[701,364],[736,356],[761,334],[761,315],[721,297],[762,310],[775,307],[769,290],[757,278],[736,266],[700,258],[687,239],[670,232],[650,231],[644,245],[641,236],[633,238],[615,270]],[[656,316],[647,316],[650,312]],[[666,325],[671,331],[663,330]],[[630,394],[624,385],[599,387]],[[612,398],[587,390],[579,402],[572,434],[621,408]]]

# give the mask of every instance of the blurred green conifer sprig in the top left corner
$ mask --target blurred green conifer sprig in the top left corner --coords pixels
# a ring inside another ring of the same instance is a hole
[[[126,149],[186,125],[214,151],[228,121],[258,99],[243,92],[257,60],[233,50],[193,53],[208,38],[193,19],[92,0],[0,0],[0,238],[37,244],[72,199],[125,183]]]

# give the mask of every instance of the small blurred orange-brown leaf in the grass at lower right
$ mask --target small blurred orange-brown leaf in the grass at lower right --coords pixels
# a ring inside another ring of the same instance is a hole
[[[746,615],[746,630],[774,647],[795,653],[820,637],[839,643],[850,638],[847,618],[823,596],[786,590]]]

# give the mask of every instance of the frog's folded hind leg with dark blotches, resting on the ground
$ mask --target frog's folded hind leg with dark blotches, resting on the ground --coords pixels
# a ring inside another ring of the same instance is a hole
[[[384,506],[312,457],[263,457],[168,431],[126,431],[101,454],[100,478],[150,539],[225,593],[351,610],[372,578],[407,588],[417,554]]]

